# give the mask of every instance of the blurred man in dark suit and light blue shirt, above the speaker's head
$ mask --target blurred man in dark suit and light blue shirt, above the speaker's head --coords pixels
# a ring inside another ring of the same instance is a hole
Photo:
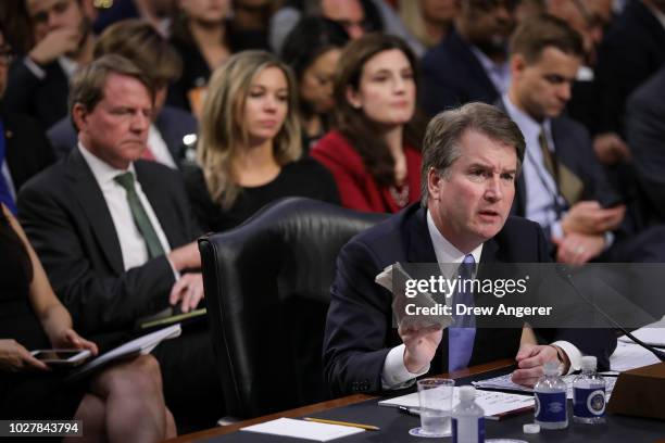
[[[494,103],[510,80],[511,0],[462,0],[455,28],[423,58],[422,99],[434,115],[470,101]]]

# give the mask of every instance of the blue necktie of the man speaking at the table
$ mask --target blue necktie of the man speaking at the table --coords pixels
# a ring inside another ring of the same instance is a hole
[[[476,338],[476,319],[473,315],[456,315],[455,305],[463,304],[473,307],[474,293],[470,280],[474,276],[476,261],[472,254],[464,256],[460,265],[460,286],[453,294],[453,324],[448,328],[448,370],[453,371],[468,366],[474,352],[474,340]]]

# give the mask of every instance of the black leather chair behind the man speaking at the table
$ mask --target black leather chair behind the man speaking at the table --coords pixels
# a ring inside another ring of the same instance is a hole
[[[289,198],[199,240],[228,415],[256,417],[328,398],[322,343],[337,254],[384,218]]]

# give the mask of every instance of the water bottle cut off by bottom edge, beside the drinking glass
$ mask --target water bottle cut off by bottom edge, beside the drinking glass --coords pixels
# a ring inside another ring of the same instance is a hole
[[[485,442],[485,412],[475,400],[476,388],[460,388],[460,404],[452,410],[453,443]]]

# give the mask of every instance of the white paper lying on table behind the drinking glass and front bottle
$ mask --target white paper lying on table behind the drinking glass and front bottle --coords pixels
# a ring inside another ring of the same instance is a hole
[[[460,403],[460,388],[453,390],[452,407]],[[507,394],[505,392],[494,391],[476,391],[476,403],[485,410],[485,416],[510,413],[512,410],[522,409],[535,405],[532,395]],[[379,406],[405,406],[409,408],[417,408],[421,406],[418,393],[406,394],[394,398],[382,400],[378,402]]]

